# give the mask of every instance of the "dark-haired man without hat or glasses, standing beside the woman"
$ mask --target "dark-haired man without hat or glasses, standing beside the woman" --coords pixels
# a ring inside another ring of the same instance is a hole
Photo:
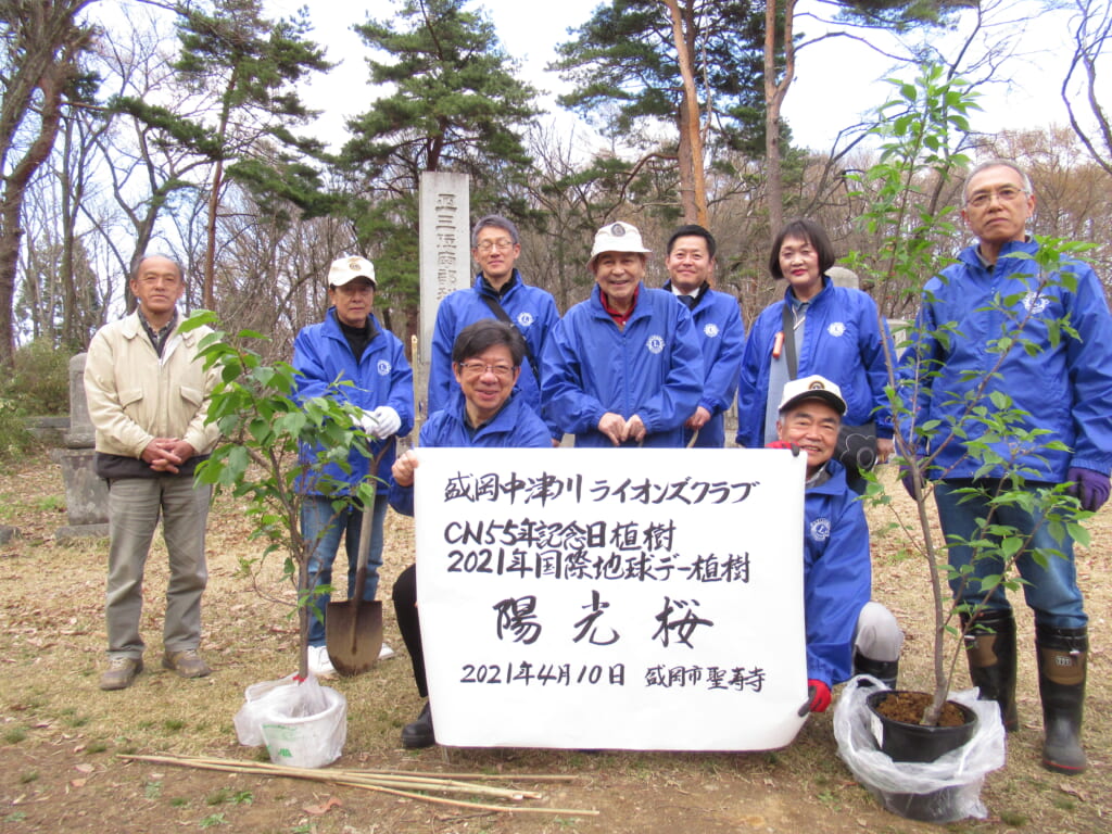
[[[684,445],[721,449],[726,444],[723,415],[734,400],[745,349],[745,325],[737,299],[711,289],[715,270],[714,236],[702,226],[681,226],[668,239],[668,281],[664,285],[692,314],[703,348],[703,396],[684,423]]]

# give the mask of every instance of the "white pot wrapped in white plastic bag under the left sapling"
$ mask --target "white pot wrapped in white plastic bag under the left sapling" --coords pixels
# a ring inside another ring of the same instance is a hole
[[[252,684],[244,695],[235,718],[240,744],[266,744],[271,762],[292,767],[324,767],[339,758],[347,698],[311,673],[300,684],[295,675]]]

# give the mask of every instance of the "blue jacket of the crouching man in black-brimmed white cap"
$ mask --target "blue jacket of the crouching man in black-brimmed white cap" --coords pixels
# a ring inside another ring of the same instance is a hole
[[[803,608],[807,677],[827,686],[853,676],[853,632],[872,594],[868,526],[842,464],[804,496]]]

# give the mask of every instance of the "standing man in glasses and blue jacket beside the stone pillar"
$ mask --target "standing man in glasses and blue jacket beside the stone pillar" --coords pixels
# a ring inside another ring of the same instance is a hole
[[[545,418],[540,399],[540,356],[552,328],[559,320],[552,294],[532,287],[522,278],[517,259],[522,255],[517,227],[498,215],[487,215],[471,229],[471,257],[479,266],[475,285],[449,292],[436,311],[429,358],[428,414],[446,408],[456,387],[451,349],[459,332],[480,319],[493,318],[512,325],[525,337],[526,361],[518,386],[525,401]],[[563,435],[549,423],[552,441]]]

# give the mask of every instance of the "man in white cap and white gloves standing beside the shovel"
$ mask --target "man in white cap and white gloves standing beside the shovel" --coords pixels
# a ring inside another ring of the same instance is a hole
[[[366,258],[349,257],[332,261],[328,270],[328,299],[331,306],[325,320],[301,329],[294,341],[294,367],[298,373],[297,396],[306,400],[310,397],[332,397],[363,409],[359,428],[374,438],[370,444],[373,455],[377,454],[394,435],[407,435],[413,428],[414,378],[406,361],[401,341],[389,330],[379,326],[371,312],[375,302],[375,267]],[[305,449],[314,456],[319,449]],[[388,448],[381,457],[376,473],[379,484],[389,483],[390,467],[394,465],[394,448]],[[348,595],[355,584],[356,555],[359,549],[359,527],[363,513],[350,505],[339,512],[332,502],[347,489],[335,490],[337,481],[356,485],[368,476],[370,461],[358,450],[348,457],[349,469],[345,471],[336,464],[324,468],[322,478],[302,476],[298,489],[306,493],[301,505],[301,535],[315,542],[309,557],[309,583],[330,585],[332,562],[344,536],[348,555]],[[328,486],[322,486],[322,480]],[[378,568],[383,564],[383,523],[388,505],[387,490],[376,495],[371,509],[374,526],[370,552],[367,556],[367,584],[364,598],[374,599],[378,589]],[[309,671],[318,676],[335,674],[325,646],[324,613],[328,607],[328,594],[315,597],[314,604],[319,616],[309,624]],[[384,644],[384,656],[393,651]]]

